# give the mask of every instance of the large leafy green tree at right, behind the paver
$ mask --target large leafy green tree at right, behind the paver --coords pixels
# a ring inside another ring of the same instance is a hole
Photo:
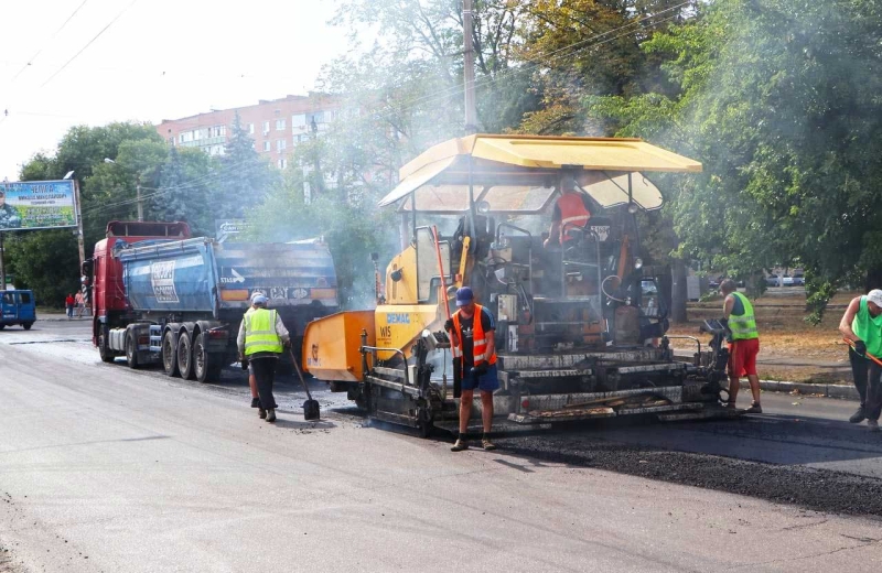
[[[668,58],[674,95],[588,102],[620,133],[654,133],[703,161],[678,184],[681,252],[741,274],[798,261],[813,321],[836,288],[882,278],[874,13],[845,0],[713,3],[645,44]]]

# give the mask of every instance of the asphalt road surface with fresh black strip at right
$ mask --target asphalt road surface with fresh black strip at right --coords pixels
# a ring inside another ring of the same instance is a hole
[[[369,426],[341,394],[320,392],[323,420],[304,422],[290,378],[267,424],[240,371],[203,386],[105,365],[87,333],[0,332],[0,571],[882,564],[882,437],[843,421],[853,403],[765,396],[770,414],[736,422],[452,454],[445,437]]]

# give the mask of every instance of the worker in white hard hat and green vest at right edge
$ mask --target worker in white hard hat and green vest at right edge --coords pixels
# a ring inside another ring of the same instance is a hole
[[[882,367],[868,358],[868,353],[882,358],[882,290],[873,289],[856,296],[839,322],[839,332],[854,343],[849,348],[851,376],[861,399],[858,411],[849,418],[852,424],[867,420],[871,432],[879,431],[882,412]]]

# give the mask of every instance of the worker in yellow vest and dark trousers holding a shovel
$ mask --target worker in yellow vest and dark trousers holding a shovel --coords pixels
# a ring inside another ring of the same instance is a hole
[[[255,310],[246,313],[239,326],[236,344],[239,359],[247,358],[254,365],[257,393],[260,400],[258,413],[267,422],[276,421],[276,397],[272,396],[272,383],[279,356],[286,346],[291,344],[291,336],[284,327],[279,313],[267,310],[267,298],[262,294],[254,296]]]

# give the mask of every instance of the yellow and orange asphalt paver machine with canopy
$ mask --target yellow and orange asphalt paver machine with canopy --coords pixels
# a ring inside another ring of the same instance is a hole
[[[440,143],[401,167],[379,203],[400,214],[407,240],[378,281],[376,307],[310,323],[303,364],[374,419],[423,433],[455,428],[459,385],[443,324],[456,289],[469,285],[496,318],[494,410],[509,425],[730,415],[719,325],[707,325],[703,349],[686,337],[695,352],[676,359],[669,270],[641,257],[637,214],[663,204],[647,174],[700,171],[639,139]],[[564,186],[584,195],[590,219],[562,246],[546,245]]]

